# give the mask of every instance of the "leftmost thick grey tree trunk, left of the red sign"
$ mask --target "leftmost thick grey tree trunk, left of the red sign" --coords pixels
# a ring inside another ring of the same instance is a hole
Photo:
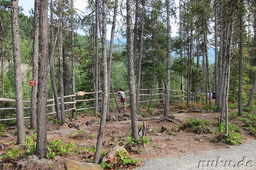
[[[12,51],[14,65],[15,82],[15,100],[16,100],[16,118],[17,118],[17,144],[25,142],[24,112],[23,112],[23,94],[21,78],[21,59],[20,59],[20,34],[18,23],[18,0],[12,0]]]

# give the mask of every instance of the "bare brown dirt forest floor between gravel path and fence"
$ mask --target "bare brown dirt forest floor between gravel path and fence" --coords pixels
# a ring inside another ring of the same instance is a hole
[[[196,106],[199,110],[200,106]],[[146,107],[140,108],[140,110],[145,113]],[[230,145],[227,143],[224,143],[223,141],[219,140],[217,142],[213,142],[211,139],[216,138],[217,135],[214,133],[209,134],[197,134],[193,132],[191,129],[183,129],[180,130],[180,132],[172,132],[171,129],[174,126],[177,126],[180,122],[176,121],[175,123],[168,122],[168,121],[162,121],[161,119],[157,118],[163,118],[163,107],[155,107],[153,108],[155,113],[161,113],[159,115],[151,115],[148,117],[143,117],[142,120],[148,119],[148,118],[156,118],[152,120],[146,121],[146,127],[152,126],[153,131],[151,133],[147,134],[148,139],[150,140],[151,144],[145,144],[144,146],[141,146],[144,151],[141,152],[130,152],[129,155],[132,159],[139,159],[139,163],[143,165],[146,161],[153,160],[159,157],[168,157],[168,156],[180,156],[186,153],[200,153],[203,151],[208,151],[212,149],[221,149],[221,148],[228,148],[228,147],[236,147],[236,145]],[[170,114],[174,115],[175,119],[184,121],[185,118],[199,118],[201,120],[209,120],[211,123],[208,126],[209,129],[214,130],[217,128],[216,121],[217,117],[220,115],[220,113],[205,113],[205,110],[202,110],[202,112],[187,112],[188,108],[180,107],[180,105],[172,105],[170,106],[171,112]],[[233,111],[234,109],[230,109],[230,111]],[[180,111],[183,111],[183,113],[179,113]],[[115,115],[124,115],[124,114],[130,114],[130,109],[128,108],[127,111],[121,111],[121,113],[118,113],[117,110],[112,110],[109,113],[111,116]],[[78,113],[77,114],[78,119],[71,122],[71,120],[67,120],[68,122],[75,124],[77,122],[85,123],[87,121],[91,121],[92,119],[98,119],[100,121],[99,117],[91,116],[90,114],[85,113]],[[141,120],[141,119],[140,119]],[[244,143],[249,140],[255,140],[255,137],[250,135],[247,130],[243,128],[243,122],[237,121],[237,120],[230,120],[234,125],[237,125],[240,127],[241,132],[240,134],[244,136]],[[138,121],[138,125],[141,126],[143,124],[143,121]],[[165,126],[167,128],[166,131],[161,132],[160,129],[162,126]],[[56,128],[58,129],[60,127],[60,124],[53,123],[53,121],[47,122],[48,128]],[[89,132],[84,133],[83,137],[70,137],[69,136],[57,136],[57,135],[51,135],[49,130],[47,132],[47,140],[60,140],[63,138],[64,140],[62,143],[68,144],[70,142],[76,144],[77,147],[81,148],[84,146],[85,148],[94,148],[96,146],[97,142],[97,134],[98,134],[99,126],[95,125],[94,128],[90,129]],[[110,149],[114,146],[121,145],[120,142],[122,142],[122,139],[127,139],[127,132],[131,130],[131,121],[118,121],[118,122],[112,122],[107,121],[105,130],[104,130],[104,145],[102,147],[102,151],[106,151],[107,149]],[[113,139],[113,137],[115,139]],[[0,155],[6,153],[6,150],[10,150],[10,145],[13,143],[12,141],[15,141],[17,139],[17,136],[14,137],[0,137],[0,144],[7,144],[6,147],[0,148]],[[125,143],[125,142],[124,142]],[[243,144],[243,143],[242,143]],[[87,155],[85,157],[85,155]],[[92,153],[86,153],[81,152],[80,154],[71,152],[70,154],[64,154],[61,156],[56,157],[55,159],[51,159],[51,161],[42,163],[41,166],[33,166],[30,167],[30,169],[51,169],[50,165],[53,164],[54,168],[56,170],[63,170],[64,169],[64,159],[72,159],[72,160],[78,160],[78,161],[86,161],[88,158],[93,158]],[[2,159],[2,158],[1,158]],[[14,162],[18,162],[22,160],[12,160]],[[3,162],[2,162],[3,163]],[[8,164],[8,162],[4,162],[5,169],[15,169],[11,164]],[[0,162],[1,164],[1,162]],[[20,165],[20,163],[17,163]],[[39,164],[38,164],[39,165]],[[17,166],[16,166],[17,167]],[[1,169],[1,168],[0,168]]]

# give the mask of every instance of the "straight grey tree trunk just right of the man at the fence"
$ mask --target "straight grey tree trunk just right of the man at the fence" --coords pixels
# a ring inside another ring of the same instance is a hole
[[[130,90],[130,108],[132,122],[132,137],[138,141],[139,132],[137,124],[136,110],[136,92],[135,92],[135,74],[134,74],[134,57],[133,57],[133,42],[132,42],[132,4],[131,0],[126,1],[127,13],[127,55],[128,55],[128,86]]]

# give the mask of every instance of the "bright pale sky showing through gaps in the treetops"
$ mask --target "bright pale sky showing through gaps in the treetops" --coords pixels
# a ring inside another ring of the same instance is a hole
[[[87,0],[74,0],[74,7],[82,12],[85,12],[85,6],[86,6]],[[177,1],[177,0],[176,0]],[[18,5],[23,7],[23,13],[27,16],[30,16],[29,11],[31,11],[31,8],[34,8],[35,1],[33,0],[19,0]],[[176,3],[177,4],[177,3]],[[80,13],[78,10],[77,13]],[[171,24],[172,29],[172,36],[176,36],[177,33],[177,25]],[[84,35],[82,30],[76,30],[77,33]],[[111,25],[107,26],[107,40],[110,40],[111,35]]]

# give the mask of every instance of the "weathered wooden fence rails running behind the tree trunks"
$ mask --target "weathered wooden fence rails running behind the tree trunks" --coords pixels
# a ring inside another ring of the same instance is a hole
[[[166,90],[166,89],[163,89],[163,88],[156,88],[156,89],[140,89],[142,91],[156,91],[156,90]],[[125,91],[125,92],[129,92],[129,91]],[[179,90],[170,90],[170,92],[181,92],[182,94],[184,94],[184,91],[179,91]],[[98,91],[98,93],[102,93],[102,91]],[[84,96],[86,96],[87,94],[95,94],[95,92],[84,92]],[[113,95],[113,93],[109,93],[110,95]],[[115,94],[118,94],[118,93],[115,93]],[[141,101],[139,101],[139,103],[145,103],[145,102],[149,102],[151,94],[139,94],[140,98],[141,98]],[[162,95],[162,96],[165,96],[164,93],[155,93],[155,94],[152,94],[152,97],[154,96],[157,96],[157,95]],[[64,98],[70,98],[70,97],[78,97],[78,93],[74,93],[72,95],[68,95],[68,96],[64,96]],[[184,98],[184,97],[187,97],[185,95],[170,95],[170,97],[175,97],[177,98],[177,100],[170,100],[170,101],[175,101],[175,102],[184,102],[184,101],[179,101],[178,98]],[[129,96],[126,97],[126,98],[130,98]],[[144,98],[144,99],[142,99]],[[60,99],[60,97],[58,98],[58,100]],[[73,104],[73,103],[77,103],[77,102],[87,102],[87,101],[94,101],[95,99],[84,99],[84,100],[74,100],[74,101],[69,101],[69,102],[64,102],[65,105],[67,104]],[[99,98],[98,99],[99,101],[102,100],[102,98]],[[109,100],[115,100],[115,98],[111,98]],[[152,99],[151,101],[162,101],[164,99],[160,99],[160,97],[158,99]],[[14,99],[6,99],[6,98],[0,98],[0,101],[4,101],[4,102],[16,102]],[[49,99],[47,100],[47,102],[54,102],[55,100],[54,99]],[[23,103],[30,103],[30,100],[24,100]],[[60,103],[58,103],[60,105]],[[130,104],[127,104],[126,106],[129,106]],[[55,104],[52,103],[52,104],[48,104],[46,107],[54,107]],[[99,108],[101,106],[98,106]],[[109,107],[117,107],[117,106],[109,106]],[[85,108],[69,108],[67,110],[65,110],[65,112],[68,112],[68,111],[72,111],[72,110],[75,110],[75,111],[80,111],[80,110],[86,110],[86,109],[93,109],[94,107],[85,107]],[[30,109],[30,107],[23,107],[23,109]],[[16,108],[0,108],[0,111],[5,111],[5,110],[16,110]],[[47,115],[52,115],[52,114],[56,114],[56,112],[51,112],[51,113],[47,113]],[[26,118],[30,118],[30,117],[24,117],[25,119]],[[15,120],[16,118],[10,118],[10,119],[0,119],[0,121],[4,121],[4,120]]]

